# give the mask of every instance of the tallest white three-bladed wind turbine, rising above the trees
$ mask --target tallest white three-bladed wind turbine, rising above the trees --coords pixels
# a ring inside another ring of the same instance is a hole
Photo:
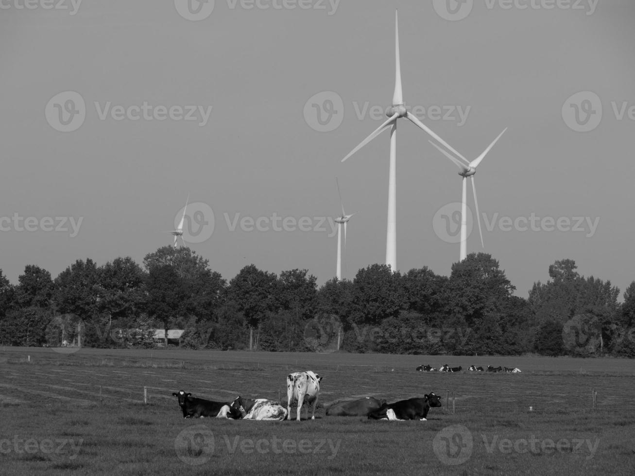
[[[386,230],[386,264],[390,265],[392,271],[397,270],[397,211],[396,211],[396,159],[397,159],[397,119],[403,117],[409,119],[416,126],[423,129],[433,138],[438,140],[452,152],[458,154],[452,147],[442,138],[432,132],[423,122],[417,119],[417,116],[406,110],[403,102],[403,93],[401,90],[401,65],[399,63],[399,22],[397,11],[395,11],[395,89],[392,96],[392,107],[388,110],[386,116],[389,117],[381,126],[379,126],[370,136],[366,137],[349,155],[342,159],[344,162],[355,152],[364,147],[367,143],[380,135],[386,129],[391,129],[391,160],[388,178],[388,225]]]

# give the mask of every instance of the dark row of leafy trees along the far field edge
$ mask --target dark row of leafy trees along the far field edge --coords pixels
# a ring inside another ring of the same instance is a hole
[[[635,281],[618,303],[610,281],[556,261],[527,299],[498,261],[472,253],[450,276],[386,265],[318,288],[308,270],[248,265],[227,282],[189,248],[97,266],[77,260],[55,279],[28,265],[13,286],[0,270],[0,343],[152,347],[154,329],[184,329],[182,347],[274,352],[635,357]]]

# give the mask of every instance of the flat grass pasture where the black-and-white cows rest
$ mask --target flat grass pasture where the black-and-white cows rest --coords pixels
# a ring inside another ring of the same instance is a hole
[[[427,363],[523,373],[414,371]],[[171,396],[285,400],[286,374],[308,369],[323,376],[315,421],[184,420]],[[621,359],[3,348],[0,473],[632,475],[634,384]],[[455,413],[428,421],[324,416],[447,390]]]

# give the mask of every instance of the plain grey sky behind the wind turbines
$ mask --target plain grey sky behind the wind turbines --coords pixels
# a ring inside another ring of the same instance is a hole
[[[340,160],[391,105],[395,8],[413,113],[469,159],[509,127],[476,174],[485,248],[475,226],[468,253],[497,258],[519,296],[563,258],[622,292],[635,279],[631,0],[24,1],[0,0],[0,268],[14,283],[27,264],[55,277],[79,258],[140,263],[171,243],[190,194],[185,240],[225,278],[255,263],[322,284],[336,176],[357,213],[344,276],[383,263],[389,133]],[[398,268],[449,274],[461,181],[428,139],[399,122]]]

